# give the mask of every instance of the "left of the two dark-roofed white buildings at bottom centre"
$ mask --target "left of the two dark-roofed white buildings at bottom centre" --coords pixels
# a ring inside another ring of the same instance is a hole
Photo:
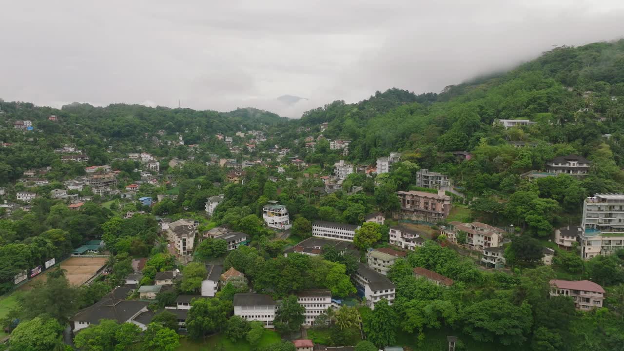
[[[255,292],[234,295],[234,315],[245,320],[258,320],[265,328],[273,328],[278,305],[273,297]]]

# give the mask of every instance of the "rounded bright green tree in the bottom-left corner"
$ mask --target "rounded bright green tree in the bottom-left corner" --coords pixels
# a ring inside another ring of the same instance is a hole
[[[11,350],[49,351],[61,338],[63,327],[54,319],[35,317],[21,322],[11,333]]]

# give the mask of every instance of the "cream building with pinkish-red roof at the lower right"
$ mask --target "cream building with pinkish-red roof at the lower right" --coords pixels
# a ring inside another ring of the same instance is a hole
[[[578,310],[591,310],[603,306],[605,289],[589,280],[550,280],[550,296],[569,296]]]

